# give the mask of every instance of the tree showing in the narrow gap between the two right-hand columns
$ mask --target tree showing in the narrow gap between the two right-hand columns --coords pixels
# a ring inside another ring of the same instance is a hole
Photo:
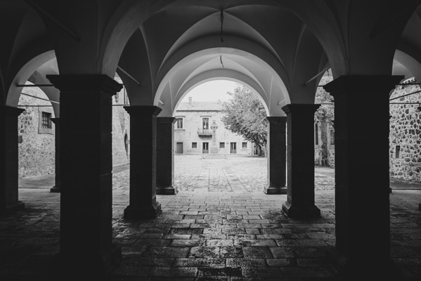
[[[325,85],[332,81],[330,77],[323,77],[320,85]],[[326,92],[323,87],[318,87],[314,103],[322,103],[314,114],[314,122],[320,124],[321,149],[319,150],[319,159],[321,165],[328,164],[328,126],[333,128],[335,122],[334,107],[331,104],[323,105],[323,103],[333,103],[333,97]]]

